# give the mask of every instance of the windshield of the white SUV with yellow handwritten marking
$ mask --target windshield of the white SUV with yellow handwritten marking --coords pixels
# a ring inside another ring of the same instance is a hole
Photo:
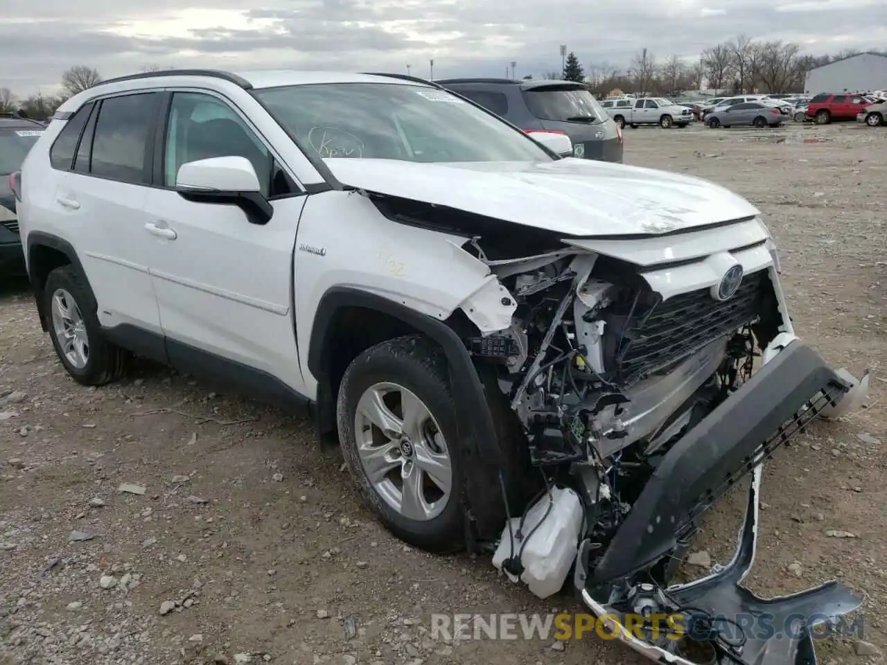
[[[446,90],[318,83],[254,94],[303,149],[322,159],[553,160],[521,131]]]

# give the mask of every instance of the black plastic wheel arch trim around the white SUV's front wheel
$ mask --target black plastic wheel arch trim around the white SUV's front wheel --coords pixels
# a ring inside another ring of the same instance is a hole
[[[318,379],[318,426],[321,431],[334,427],[335,395],[326,366],[328,329],[338,309],[360,307],[396,317],[435,340],[450,368],[453,399],[459,424],[459,442],[463,446],[463,465],[468,476],[467,508],[472,533],[467,534],[469,549],[475,539],[492,541],[502,528],[498,473],[504,468],[496,429],[483,385],[468,355],[465,344],[450,326],[432,317],[389,301],[374,293],[348,287],[334,287],[318,303],[308,352],[308,367]]]

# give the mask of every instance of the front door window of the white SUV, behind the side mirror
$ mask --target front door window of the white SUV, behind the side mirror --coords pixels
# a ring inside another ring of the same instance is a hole
[[[271,183],[271,153],[239,114],[221,99],[193,92],[172,97],[164,155],[163,184],[176,186],[178,169],[189,161],[245,157],[255,168],[262,193]]]

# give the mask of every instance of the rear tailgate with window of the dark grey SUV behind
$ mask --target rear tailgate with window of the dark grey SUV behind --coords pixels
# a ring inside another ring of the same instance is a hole
[[[622,161],[616,122],[582,83],[533,83],[522,86],[522,97],[541,129],[564,132],[577,156]]]

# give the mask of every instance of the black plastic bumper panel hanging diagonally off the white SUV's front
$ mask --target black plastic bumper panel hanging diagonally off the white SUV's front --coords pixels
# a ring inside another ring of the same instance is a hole
[[[774,434],[773,448],[788,439],[785,423],[805,407],[812,418],[849,388],[800,341],[782,349],[663,457],[595,568],[595,581],[630,575],[669,552],[698,505],[710,503],[737,470],[750,471]],[[812,400],[820,393],[826,396],[817,408]]]

